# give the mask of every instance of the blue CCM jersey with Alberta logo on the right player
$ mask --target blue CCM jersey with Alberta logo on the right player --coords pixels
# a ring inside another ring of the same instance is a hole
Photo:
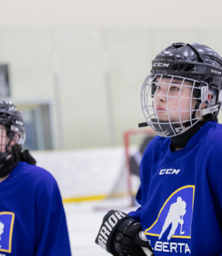
[[[222,254],[222,125],[207,122],[186,147],[155,137],[141,161],[141,222],[155,256]]]

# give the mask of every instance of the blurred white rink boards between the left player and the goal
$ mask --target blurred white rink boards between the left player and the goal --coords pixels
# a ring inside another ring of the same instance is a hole
[[[31,153],[37,165],[57,179],[63,199],[108,195],[126,172],[123,147]],[[122,179],[123,192],[127,191],[126,175]]]

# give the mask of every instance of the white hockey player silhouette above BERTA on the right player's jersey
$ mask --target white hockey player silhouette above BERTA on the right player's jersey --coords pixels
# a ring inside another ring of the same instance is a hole
[[[184,234],[182,231],[182,225],[184,224],[183,216],[186,214],[186,202],[182,200],[182,197],[178,197],[176,203],[172,203],[170,205],[170,210],[168,212],[168,216],[165,218],[165,222],[163,224],[163,228],[161,233],[159,234],[159,239],[161,239],[163,233],[167,228],[172,224],[170,232],[168,234],[168,241],[175,234],[176,228],[180,223],[180,234]]]

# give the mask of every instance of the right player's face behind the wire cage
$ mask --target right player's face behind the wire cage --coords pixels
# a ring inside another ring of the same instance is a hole
[[[153,108],[159,121],[186,122],[190,120],[195,104],[191,82],[171,78],[155,82]]]

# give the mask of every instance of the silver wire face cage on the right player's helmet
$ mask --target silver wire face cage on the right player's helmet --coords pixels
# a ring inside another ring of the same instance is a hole
[[[184,133],[200,121],[205,110],[202,102],[215,104],[207,98],[209,85],[178,75],[155,73],[147,76],[141,90],[141,107],[149,127],[162,137]]]

